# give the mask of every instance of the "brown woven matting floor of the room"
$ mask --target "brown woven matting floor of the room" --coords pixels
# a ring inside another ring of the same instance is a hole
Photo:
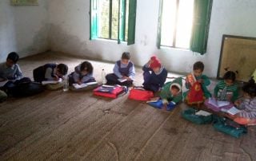
[[[46,62],[70,66],[84,61],[62,53],[44,53],[19,61],[23,73]],[[91,61],[95,77],[113,64]],[[136,69],[135,84],[142,83]],[[174,76],[169,74],[170,77]],[[255,128],[239,139],[211,124],[183,120],[181,104],[172,112],[92,92],[46,91],[0,104],[0,160],[256,160]]]

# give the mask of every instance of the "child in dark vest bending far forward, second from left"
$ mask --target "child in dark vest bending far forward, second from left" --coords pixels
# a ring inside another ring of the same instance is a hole
[[[66,75],[68,67],[65,64],[46,64],[33,70],[34,81],[58,81]]]

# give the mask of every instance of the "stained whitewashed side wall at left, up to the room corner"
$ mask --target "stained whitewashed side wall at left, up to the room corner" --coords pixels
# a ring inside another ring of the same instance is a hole
[[[10,6],[10,0],[0,1],[0,62],[12,51],[26,57],[49,49],[48,1],[38,3]]]

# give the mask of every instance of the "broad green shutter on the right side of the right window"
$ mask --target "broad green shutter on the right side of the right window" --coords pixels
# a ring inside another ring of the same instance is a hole
[[[190,50],[206,53],[212,0],[194,0],[194,23]]]

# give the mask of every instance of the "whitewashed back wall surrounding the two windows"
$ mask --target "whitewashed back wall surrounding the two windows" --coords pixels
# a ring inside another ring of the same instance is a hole
[[[51,49],[105,61],[116,61],[123,51],[130,51],[132,61],[140,66],[154,53],[166,69],[176,73],[188,73],[194,61],[203,61],[205,73],[216,77],[222,34],[256,37],[256,1],[214,0],[205,55],[180,49],[157,49],[159,0],[137,2],[136,44],[127,46],[115,41],[89,41],[89,0],[49,1]]]

